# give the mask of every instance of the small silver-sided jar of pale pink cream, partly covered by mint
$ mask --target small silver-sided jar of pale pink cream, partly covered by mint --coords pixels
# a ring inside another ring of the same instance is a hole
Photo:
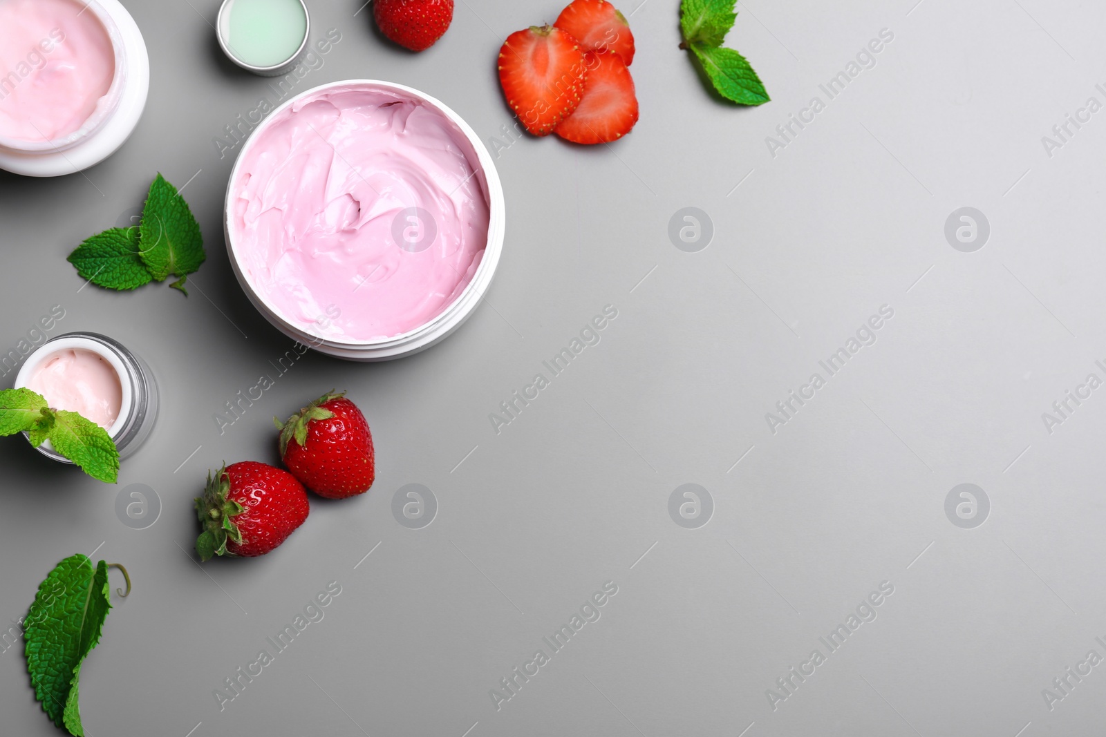
[[[138,450],[157,419],[157,383],[140,358],[95,333],[67,333],[27,357],[15,389],[42,394],[55,410],[79,412],[104,428],[124,459]],[[50,441],[39,452],[70,463]]]

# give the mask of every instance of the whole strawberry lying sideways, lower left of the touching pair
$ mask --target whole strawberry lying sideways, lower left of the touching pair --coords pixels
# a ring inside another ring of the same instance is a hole
[[[255,461],[208,472],[196,515],[204,531],[196,539],[201,560],[212,556],[262,556],[307,518],[307,493],[286,471]]]

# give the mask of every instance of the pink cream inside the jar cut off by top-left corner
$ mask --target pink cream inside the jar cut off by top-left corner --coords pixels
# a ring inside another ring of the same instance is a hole
[[[115,76],[115,49],[76,0],[0,0],[0,136],[56,140],[96,112]]]

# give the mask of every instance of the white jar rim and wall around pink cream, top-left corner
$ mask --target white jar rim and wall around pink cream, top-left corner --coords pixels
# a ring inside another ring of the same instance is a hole
[[[149,55],[142,31],[118,0],[88,0],[81,12],[103,24],[115,51],[107,94],[67,136],[38,141],[0,137],[0,169],[28,177],[74,173],[114,154],[138,125],[149,92]]]

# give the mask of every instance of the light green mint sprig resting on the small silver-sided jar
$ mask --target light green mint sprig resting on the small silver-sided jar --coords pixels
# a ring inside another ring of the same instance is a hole
[[[0,435],[25,432],[31,445],[50,441],[54,450],[86,474],[114,484],[119,472],[115,441],[92,420],[76,412],[51,409],[42,394],[30,389],[0,391]]]

